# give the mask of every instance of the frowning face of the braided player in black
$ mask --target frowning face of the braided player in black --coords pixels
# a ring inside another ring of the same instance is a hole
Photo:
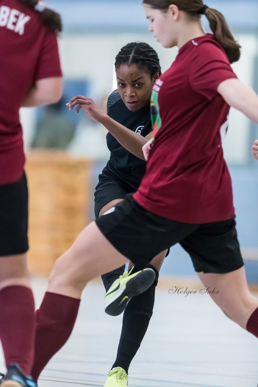
[[[116,70],[118,92],[131,111],[137,111],[150,103],[152,86],[158,75],[150,78],[150,74],[137,65],[121,65]]]

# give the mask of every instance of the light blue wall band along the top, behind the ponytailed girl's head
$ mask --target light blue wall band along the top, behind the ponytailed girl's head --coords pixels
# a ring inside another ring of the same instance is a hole
[[[257,28],[257,1],[207,0],[207,3],[222,12],[232,27]],[[65,32],[130,32],[143,31],[147,26],[141,0],[49,0],[48,6],[62,15]]]

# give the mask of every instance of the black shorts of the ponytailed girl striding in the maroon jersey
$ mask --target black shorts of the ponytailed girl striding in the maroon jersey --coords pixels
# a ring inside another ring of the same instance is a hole
[[[121,254],[142,269],[178,242],[189,253],[196,272],[228,273],[244,265],[234,218],[206,224],[179,223],[145,210],[129,194],[97,218],[96,224]]]

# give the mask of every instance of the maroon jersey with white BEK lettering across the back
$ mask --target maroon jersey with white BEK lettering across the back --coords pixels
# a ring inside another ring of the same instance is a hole
[[[56,33],[39,12],[17,0],[0,2],[0,184],[21,178],[24,166],[19,108],[38,79],[62,76]]]

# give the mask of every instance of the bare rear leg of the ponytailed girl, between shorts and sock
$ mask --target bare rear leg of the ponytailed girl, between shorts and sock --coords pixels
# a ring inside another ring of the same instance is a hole
[[[249,291],[244,267],[226,274],[197,274],[204,286],[210,286],[210,291],[215,288],[215,294],[210,296],[226,316],[246,329],[249,317],[258,307],[258,299]]]

